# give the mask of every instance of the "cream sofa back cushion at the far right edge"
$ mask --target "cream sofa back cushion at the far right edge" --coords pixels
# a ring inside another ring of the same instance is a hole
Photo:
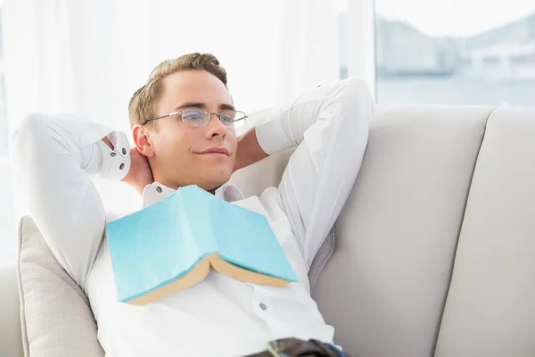
[[[436,356],[535,356],[535,111],[490,116]]]

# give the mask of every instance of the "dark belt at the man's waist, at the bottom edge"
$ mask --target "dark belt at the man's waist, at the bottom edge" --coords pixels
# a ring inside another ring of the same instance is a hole
[[[297,338],[284,338],[268,344],[268,350],[245,357],[350,357],[333,345],[317,340],[303,341]]]

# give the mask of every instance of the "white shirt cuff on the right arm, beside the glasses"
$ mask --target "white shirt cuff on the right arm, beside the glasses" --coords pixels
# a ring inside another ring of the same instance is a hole
[[[295,146],[292,139],[284,132],[281,112],[273,112],[272,114],[275,114],[275,118],[260,122],[255,127],[259,145],[269,155]]]

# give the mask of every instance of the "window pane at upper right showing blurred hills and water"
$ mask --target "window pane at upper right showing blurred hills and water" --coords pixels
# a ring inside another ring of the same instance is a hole
[[[375,0],[378,104],[535,106],[532,0]]]

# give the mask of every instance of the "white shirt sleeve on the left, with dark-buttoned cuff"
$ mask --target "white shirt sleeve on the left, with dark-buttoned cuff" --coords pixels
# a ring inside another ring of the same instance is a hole
[[[123,179],[129,149],[125,133],[73,115],[31,114],[10,142],[15,184],[29,215],[63,269],[84,289],[105,227],[91,178]]]

